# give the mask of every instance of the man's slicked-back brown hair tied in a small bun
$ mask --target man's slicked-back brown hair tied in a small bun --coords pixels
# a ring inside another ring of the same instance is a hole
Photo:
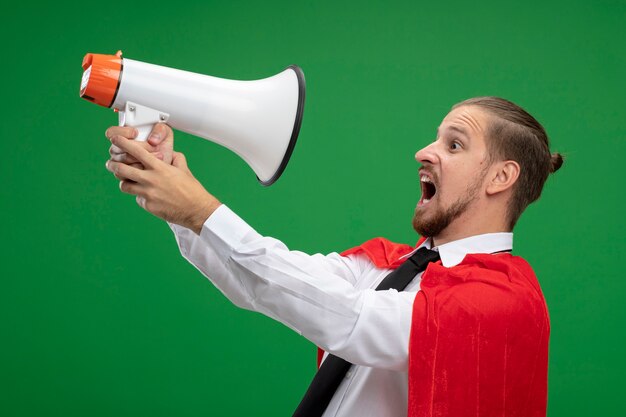
[[[475,97],[452,108],[461,106],[476,106],[492,116],[486,135],[490,160],[512,160],[520,165],[508,207],[509,226],[513,229],[524,209],[541,195],[548,175],[563,165],[563,156],[550,153],[543,126],[515,103],[499,97]]]

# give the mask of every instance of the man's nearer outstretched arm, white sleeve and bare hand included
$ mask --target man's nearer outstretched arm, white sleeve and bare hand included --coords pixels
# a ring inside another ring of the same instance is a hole
[[[202,187],[182,154],[168,165],[125,137],[111,142],[144,168],[109,161],[122,191],[175,224],[183,256],[233,303],[353,363],[406,370],[414,292],[355,287],[358,259],[309,256],[260,235]]]

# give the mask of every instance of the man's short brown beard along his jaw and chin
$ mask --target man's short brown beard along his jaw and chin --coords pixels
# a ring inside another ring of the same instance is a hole
[[[486,170],[479,178],[468,187],[457,201],[448,208],[439,208],[430,217],[423,212],[423,207],[416,207],[413,215],[413,229],[420,236],[436,237],[443,232],[456,218],[465,213],[470,204],[476,199],[476,193],[480,189],[486,176]]]

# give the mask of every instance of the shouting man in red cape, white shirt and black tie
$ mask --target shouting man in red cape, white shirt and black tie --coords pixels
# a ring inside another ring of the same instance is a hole
[[[314,380],[297,415],[545,415],[547,309],[532,270],[509,252],[516,221],[562,158],[523,109],[495,97],[455,105],[415,156],[424,249],[374,239],[344,256],[259,235],[193,177],[169,128],[154,133],[139,144],[132,128],[107,130],[120,189],[171,224],[183,256],[233,303],[302,334],[333,355],[327,364],[345,360],[329,371],[339,382],[328,400]],[[408,284],[379,287],[421,251],[435,257]]]

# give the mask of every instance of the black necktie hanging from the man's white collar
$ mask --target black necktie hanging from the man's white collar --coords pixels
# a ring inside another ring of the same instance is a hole
[[[399,268],[392,271],[376,287],[376,291],[391,288],[402,291],[415,276],[426,269],[430,262],[439,260],[439,253],[420,248]],[[304,398],[293,413],[293,417],[320,417],[324,414],[339,384],[352,364],[335,355],[328,355],[315,374]]]

